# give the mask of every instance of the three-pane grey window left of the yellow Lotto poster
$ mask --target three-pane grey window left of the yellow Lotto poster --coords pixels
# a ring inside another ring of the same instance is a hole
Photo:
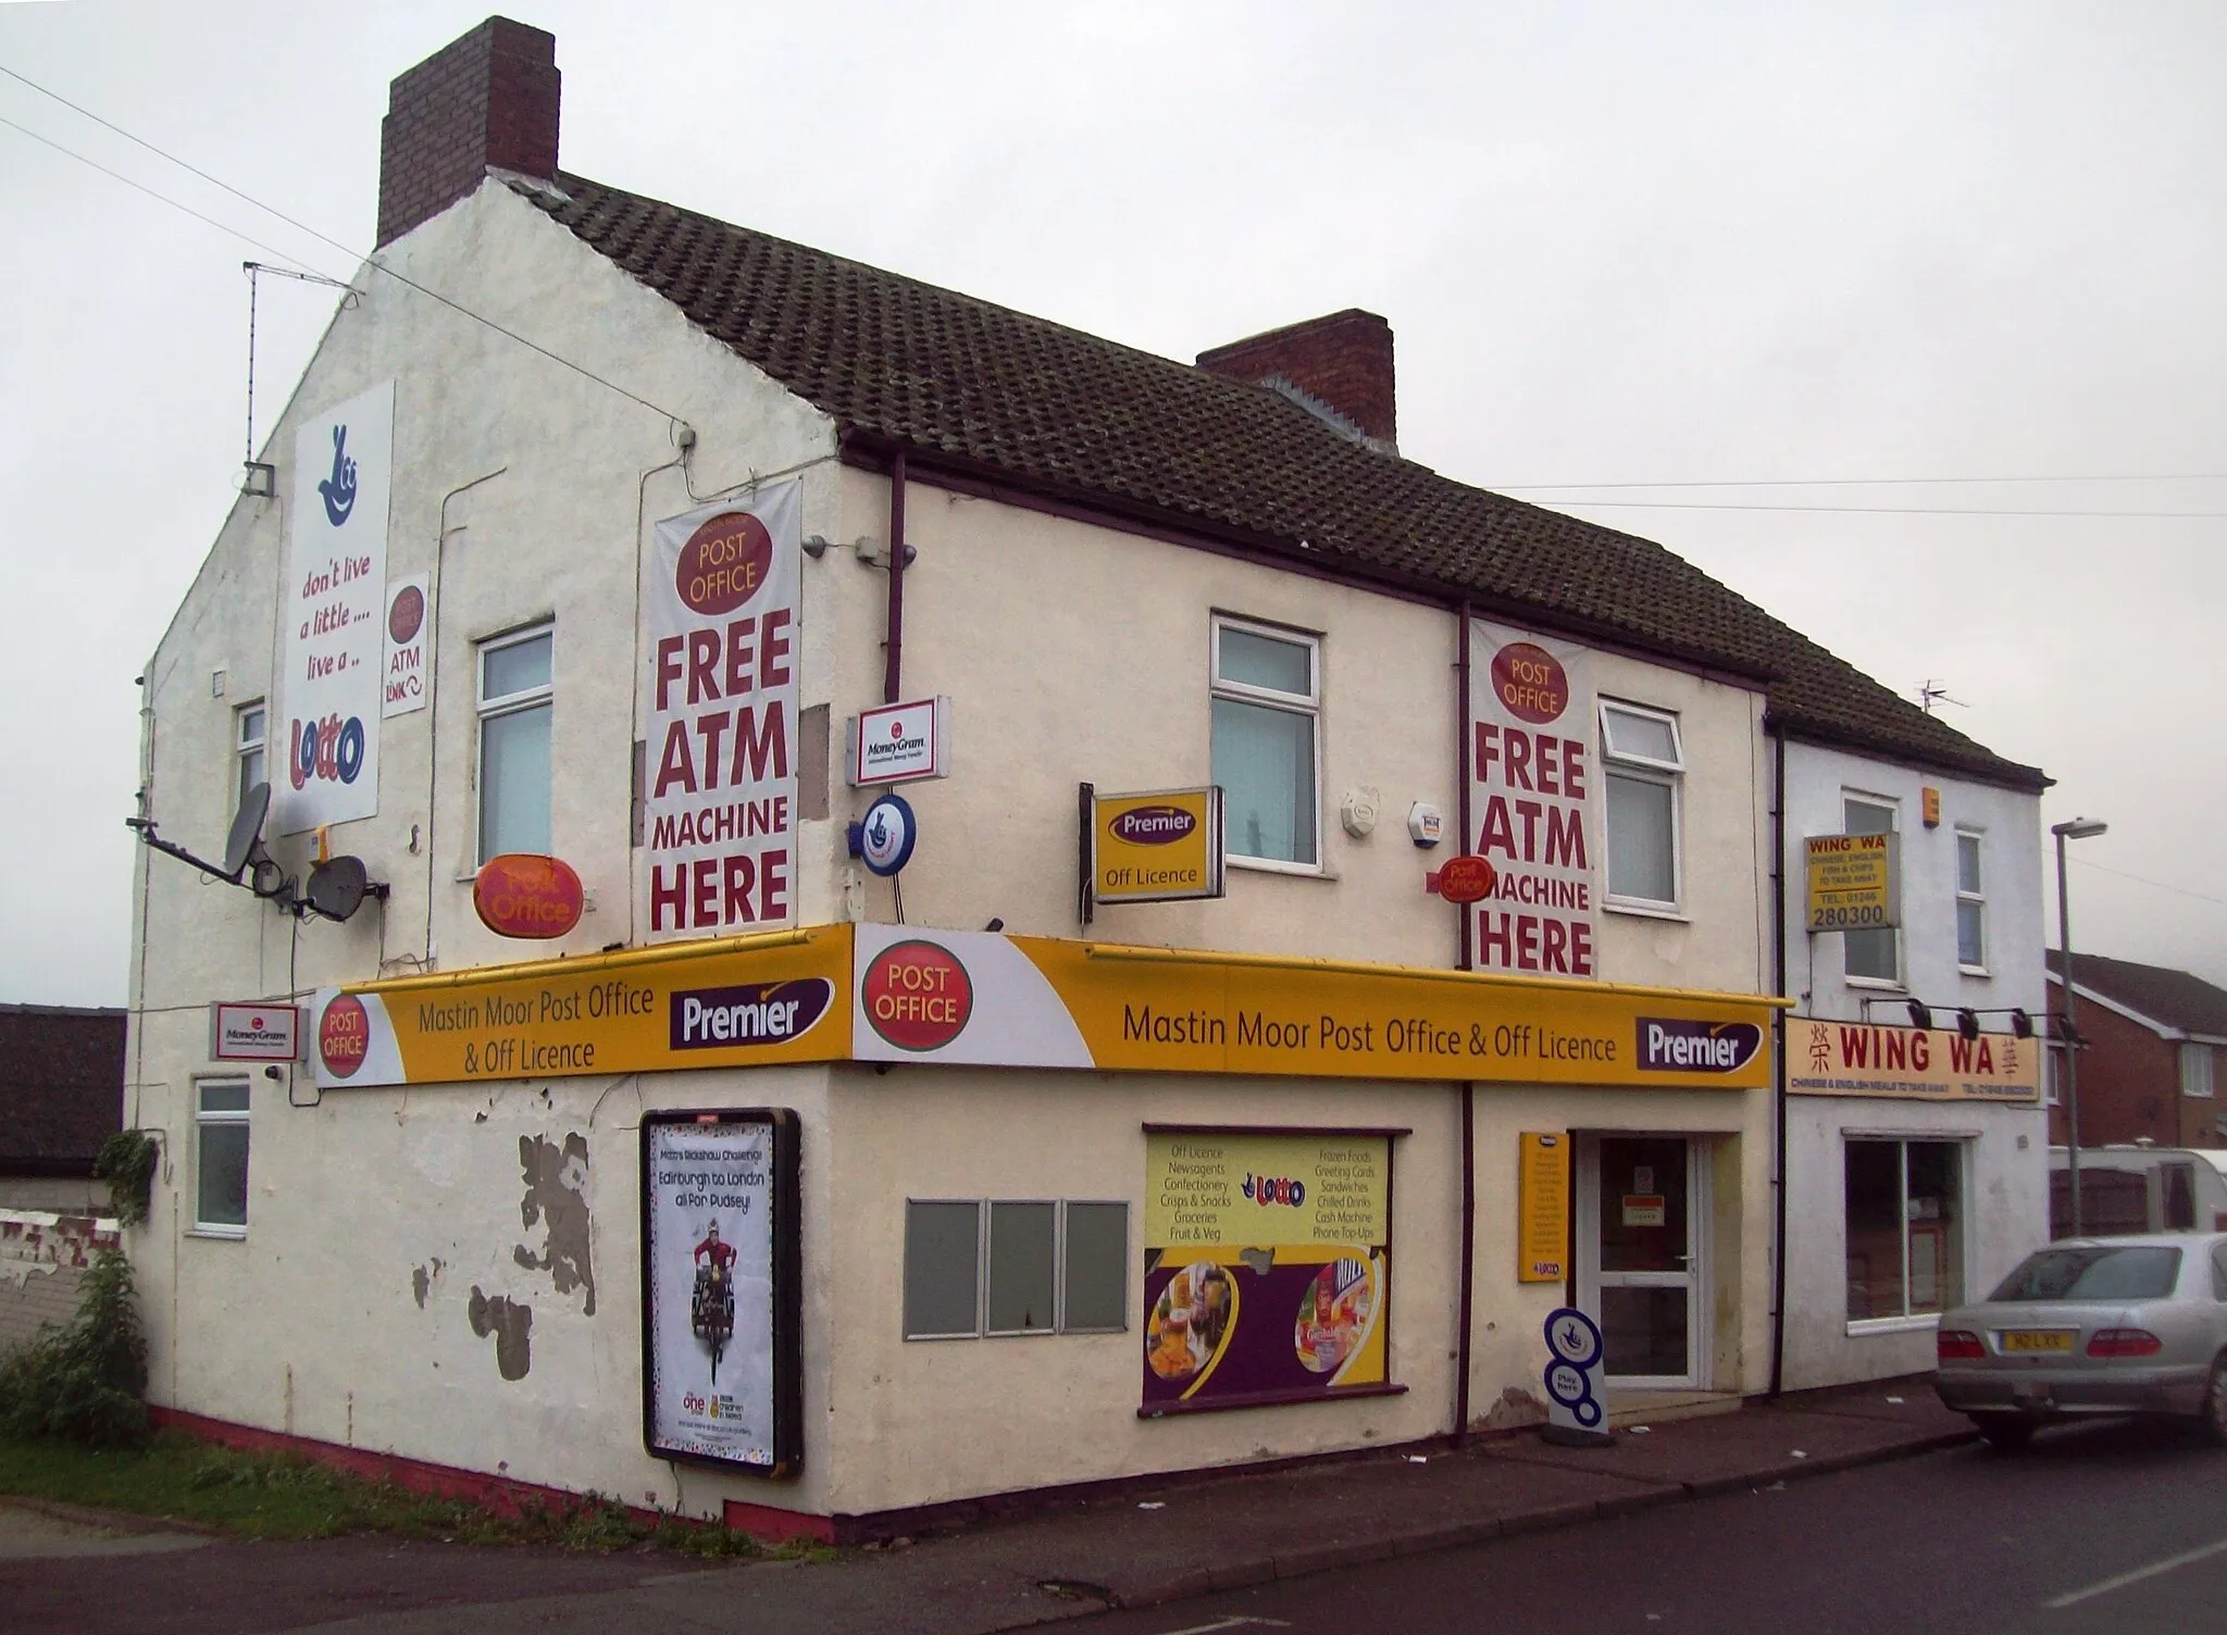
[[[1127,1203],[906,1198],[904,1339],[1125,1328]]]

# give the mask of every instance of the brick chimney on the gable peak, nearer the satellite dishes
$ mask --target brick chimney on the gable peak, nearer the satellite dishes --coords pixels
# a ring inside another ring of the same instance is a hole
[[[379,243],[477,192],[488,167],[557,180],[557,36],[488,18],[387,87]]]

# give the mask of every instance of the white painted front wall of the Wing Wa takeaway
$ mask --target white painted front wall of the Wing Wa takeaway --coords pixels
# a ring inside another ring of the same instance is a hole
[[[1942,791],[1942,822],[1922,822],[1922,791]],[[1842,833],[1844,793],[1886,797],[1902,822],[1900,985],[1848,982],[1837,936],[1806,933],[1802,838]],[[1958,969],[1955,833],[1984,835],[1986,976]],[[1902,1000],[1933,1007],[1935,1027],[1955,1027],[1971,1005],[2022,1005],[2035,1018],[2042,998],[2042,835],[2035,795],[1895,766],[1813,744],[1786,746],[1786,980],[1795,1016],[1862,1020],[1862,1000],[1880,1022],[1909,1025]],[[1982,1016],[2007,1034],[2007,1016]],[[2040,1020],[2035,1029],[2040,1031]],[[1926,1103],[1860,1096],[1791,1096],[1786,1109],[1786,1386],[1833,1386],[1933,1368],[1933,1319],[1902,1332],[1866,1325],[1848,1332],[1846,1305],[1846,1140],[1915,1136],[1964,1143],[1964,1299],[1993,1288],[2049,1239],[2049,1136],[2040,1107]]]

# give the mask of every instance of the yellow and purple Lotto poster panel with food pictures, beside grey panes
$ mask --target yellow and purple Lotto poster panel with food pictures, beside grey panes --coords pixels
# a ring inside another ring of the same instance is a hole
[[[1381,1388],[1387,1132],[1145,1136],[1145,1417]]]

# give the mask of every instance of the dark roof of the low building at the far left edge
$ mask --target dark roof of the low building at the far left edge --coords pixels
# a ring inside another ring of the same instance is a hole
[[[122,1011],[0,1005],[0,1174],[89,1176],[122,1118]]]

